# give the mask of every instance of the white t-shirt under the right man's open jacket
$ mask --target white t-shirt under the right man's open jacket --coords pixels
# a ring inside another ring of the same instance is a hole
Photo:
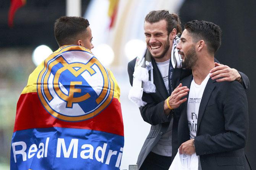
[[[188,95],[188,104],[187,104],[187,118],[188,118],[188,127],[190,130],[190,138],[193,139],[196,137],[196,127],[198,120],[198,111],[201,103],[201,99],[204,93],[206,84],[210,78],[210,74],[206,76],[203,82],[198,85],[194,82],[194,79],[191,82],[190,92]]]

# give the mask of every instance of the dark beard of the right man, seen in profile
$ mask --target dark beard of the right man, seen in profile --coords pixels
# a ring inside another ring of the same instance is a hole
[[[186,56],[184,55],[184,58],[182,60],[182,68],[192,70],[197,60],[198,60],[198,56],[196,55],[196,49],[195,47],[192,47],[191,49],[188,50]]]

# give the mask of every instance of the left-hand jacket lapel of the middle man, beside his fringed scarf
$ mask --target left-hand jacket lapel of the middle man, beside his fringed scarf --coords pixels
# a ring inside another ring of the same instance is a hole
[[[162,75],[161,75],[154,59],[152,59],[152,66],[153,66],[154,84],[156,85],[156,92],[159,92],[164,99],[167,99],[167,97],[169,97],[169,95],[168,95],[167,89],[164,85],[164,80],[162,79]]]

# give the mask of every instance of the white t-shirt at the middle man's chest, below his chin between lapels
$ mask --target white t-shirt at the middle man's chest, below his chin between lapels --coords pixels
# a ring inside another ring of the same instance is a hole
[[[164,80],[164,85],[168,93],[169,93],[169,81],[168,81],[169,64],[170,64],[170,59],[165,62],[156,62],[156,65],[162,75],[162,79]]]

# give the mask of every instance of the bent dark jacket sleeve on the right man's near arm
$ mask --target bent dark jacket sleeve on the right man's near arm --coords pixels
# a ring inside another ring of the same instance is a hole
[[[227,86],[228,84],[228,86]],[[197,155],[234,151],[245,147],[248,135],[248,104],[245,90],[237,81],[225,83],[220,92],[225,132],[194,138]]]

